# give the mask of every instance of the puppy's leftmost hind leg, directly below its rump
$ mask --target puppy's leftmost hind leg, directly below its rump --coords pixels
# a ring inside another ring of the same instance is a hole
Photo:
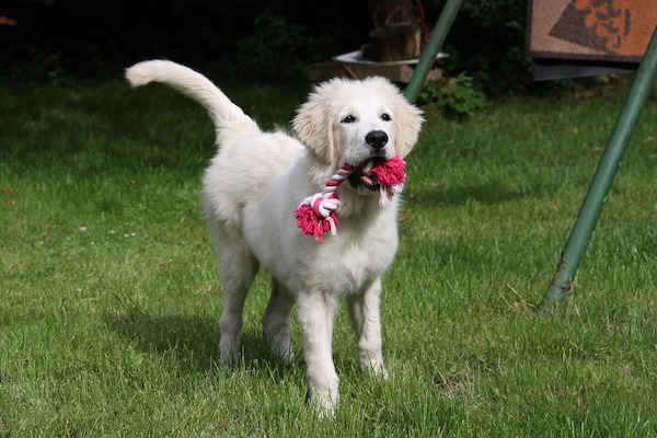
[[[240,241],[222,240],[219,247],[219,268],[223,283],[219,355],[224,364],[233,364],[238,358],[242,337],[244,301],[257,274],[258,264]]]

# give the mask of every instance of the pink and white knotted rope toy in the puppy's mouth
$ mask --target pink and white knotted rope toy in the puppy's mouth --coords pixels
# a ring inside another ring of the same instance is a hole
[[[371,159],[359,166],[343,164],[326,182],[322,192],[303,199],[293,211],[297,226],[301,230],[299,235],[313,235],[315,241],[322,243],[324,233],[337,234],[339,222],[335,210],[339,207],[341,200],[335,195],[335,191],[354,172],[362,172],[372,184],[379,184],[381,193],[379,205],[385,207],[394,195],[402,193],[406,181],[405,168],[406,163],[399,155],[388,161]]]

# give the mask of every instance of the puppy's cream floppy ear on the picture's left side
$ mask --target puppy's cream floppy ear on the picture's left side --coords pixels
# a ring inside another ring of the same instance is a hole
[[[323,163],[333,164],[335,155],[334,120],[327,112],[327,101],[321,89],[309,96],[292,120],[299,140]]]

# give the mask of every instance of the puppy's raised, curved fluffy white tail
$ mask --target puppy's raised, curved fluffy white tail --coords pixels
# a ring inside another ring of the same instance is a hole
[[[169,60],[149,60],[126,69],[126,79],[132,87],[150,82],[165,83],[194,99],[208,111],[219,135],[260,130],[255,122],[208,78],[188,67]]]

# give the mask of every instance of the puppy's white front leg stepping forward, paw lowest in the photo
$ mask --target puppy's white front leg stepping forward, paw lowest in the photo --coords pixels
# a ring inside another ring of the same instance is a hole
[[[337,300],[324,291],[315,291],[301,293],[298,303],[310,402],[331,413],[338,401],[338,378],[331,350]]]

